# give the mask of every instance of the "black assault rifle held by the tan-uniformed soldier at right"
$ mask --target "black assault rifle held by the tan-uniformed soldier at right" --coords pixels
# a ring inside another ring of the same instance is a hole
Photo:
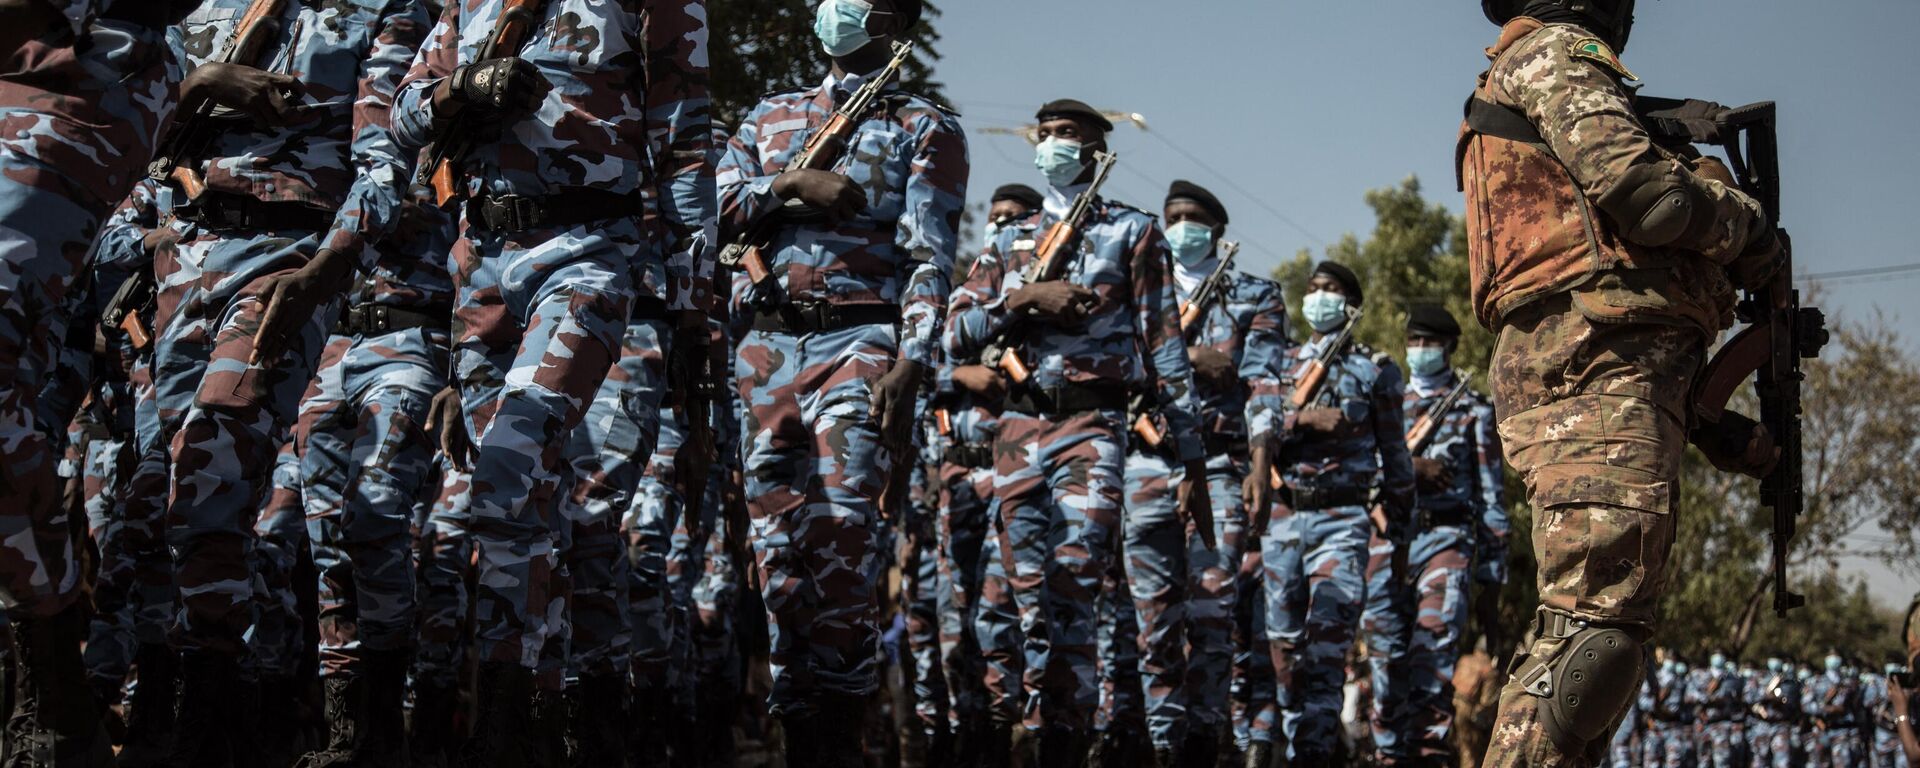
[[[1661,108],[1678,108],[1686,102],[1640,100],[1653,115]],[[1692,102],[1701,104],[1701,102]],[[1766,223],[1780,227],[1780,144],[1776,134],[1774,102],[1751,104],[1736,109],[1713,111],[1713,134],[1692,132],[1693,140],[1713,140],[1726,150],[1734,179],[1740,188],[1761,202]],[[1659,123],[1659,121],[1653,121]],[[1793,528],[1805,507],[1801,488],[1801,361],[1818,357],[1828,342],[1826,315],[1814,307],[1801,307],[1799,292],[1793,290],[1793,248],[1782,228],[1780,248],[1786,253],[1780,273],[1764,286],[1747,290],[1740,301],[1740,319],[1747,326],[1736,334],[1707,363],[1693,390],[1693,417],[1705,424],[1718,424],[1726,419],[1726,403],[1749,376],[1761,399],[1761,424],[1772,434],[1780,447],[1780,463],[1761,478],[1761,503],[1772,509],[1772,570],[1774,570],[1774,612],[1786,614],[1807,597],[1788,589],[1788,557],[1793,543]]]

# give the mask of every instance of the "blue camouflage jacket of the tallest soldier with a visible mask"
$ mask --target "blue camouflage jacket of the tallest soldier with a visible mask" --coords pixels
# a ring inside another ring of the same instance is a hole
[[[814,88],[768,96],[747,113],[720,161],[724,228],[745,230],[783,204],[774,177],[852,90],[856,77],[828,77]],[[854,129],[833,169],[866,192],[866,211],[839,227],[785,227],[764,250],[785,300],[900,305],[900,359],[933,365],[960,246],[968,163],[966,134],[952,113],[891,90]],[[743,311],[745,288],[745,275],[737,275],[735,313]]]

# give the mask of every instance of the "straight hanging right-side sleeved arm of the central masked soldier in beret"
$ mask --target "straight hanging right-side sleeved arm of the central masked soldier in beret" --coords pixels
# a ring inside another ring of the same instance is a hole
[[[1200,444],[1200,403],[1194,397],[1194,369],[1187,359],[1187,336],[1181,334],[1181,301],[1173,292],[1173,253],[1160,227],[1146,225],[1135,238],[1129,273],[1133,275],[1135,328],[1140,349],[1146,349],[1146,386],[1160,396],[1160,415],[1167,420],[1167,438],[1175,442],[1175,459],[1204,461]]]

